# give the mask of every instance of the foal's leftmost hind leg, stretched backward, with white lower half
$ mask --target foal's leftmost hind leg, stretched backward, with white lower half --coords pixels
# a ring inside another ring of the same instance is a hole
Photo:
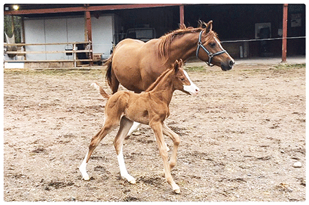
[[[115,127],[117,127],[118,123],[106,123],[105,125],[102,127],[102,129],[100,129],[100,131],[98,133],[95,134],[95,136],[93,136],[93,138],[91,139],[90,145],[89,145],[89,151],[87,152],[84,160],[82,161],[82,164],[80,164],[80,172],[82,173],[82,178],[84,180],[89,180],[90,177],[86,171],[86,166],[87,163],[90,159],[91,154],[93,153],[93,150],[95,149],[95,147],[98,147],[99,143],[101,142],[101,140],[109,133],[111,132],[113,129],[115,129]]]

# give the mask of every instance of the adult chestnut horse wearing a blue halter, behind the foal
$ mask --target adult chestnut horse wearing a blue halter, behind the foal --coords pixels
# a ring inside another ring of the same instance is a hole
[[[205,26],[205,28],[203,28]],[[145,91],[176,60],[196,55],[208,65],[218,65],[226,71],[234,61],[222,48],[212,21],[199,21],[198,28],[186,28],[152,39],[147,43],[135,39],[120,41],[113,54],[106,60],[106,79],[113,94],[119,83],[126,89],[140,93]]]

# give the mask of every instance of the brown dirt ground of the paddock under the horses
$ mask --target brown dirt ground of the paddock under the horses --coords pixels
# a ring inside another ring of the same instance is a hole
[[[117,129],[95,149],[91,180],[82,180],[78,166],[102,127],[106,103],[89,85],[111,92],[102,69],[5,69],[4,201],[305,201],[306,67],[186,67],[201,92],[175,91],[165,121],[181,136],[172,171],[181,195],[165,182],[147,125],[124,145],[137,184],[120,177]]]

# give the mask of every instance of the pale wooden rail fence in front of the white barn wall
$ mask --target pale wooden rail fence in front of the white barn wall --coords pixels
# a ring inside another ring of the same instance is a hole
[[[89,50],[77,50],[77,44],[87,44],[90,45]],[[16,54],[17,56],[24,56],[23,60],[4,60],[4,62],[28,62],[28,63],[49,63],[49,62],[73,62],[74,67],[76,67],[77,62],[88,61],[93,62],[93,50],[91,49],[91,41],[82,42],[65,42],[65,43],[4,43],[4,47],[16,46],[23,47],[24,51],[7,51],[5,54]],[[26,51],[25,46],[35,46],[35,45],[72,45],[71,50],[49,50],[49,51]],[[27,60],[26,54],[58,54],[65,53],[73,55],[73,59],[60,59],[60,60]],[[88,53],[89,59],[78,59],[78,53]]]

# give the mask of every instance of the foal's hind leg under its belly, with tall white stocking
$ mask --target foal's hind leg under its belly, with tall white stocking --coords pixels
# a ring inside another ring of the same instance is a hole
[[[122,144],[124,142],[124,138],[128,134],[128,131],[130,127],[132,127],[132,125],[133,121],[128,120],[128,118],[126,117],[122,117],[122,120],[120,121],[119,131],[114,140],[114,146],[117,153],[120,175],[126,178],[126,180],[128,180],[128,182],[130,182],[131,184],[135,184],[135,178],[129,175],[128,171],[126,170],[126,164],[124,164],[124,155],[122,154]]]

